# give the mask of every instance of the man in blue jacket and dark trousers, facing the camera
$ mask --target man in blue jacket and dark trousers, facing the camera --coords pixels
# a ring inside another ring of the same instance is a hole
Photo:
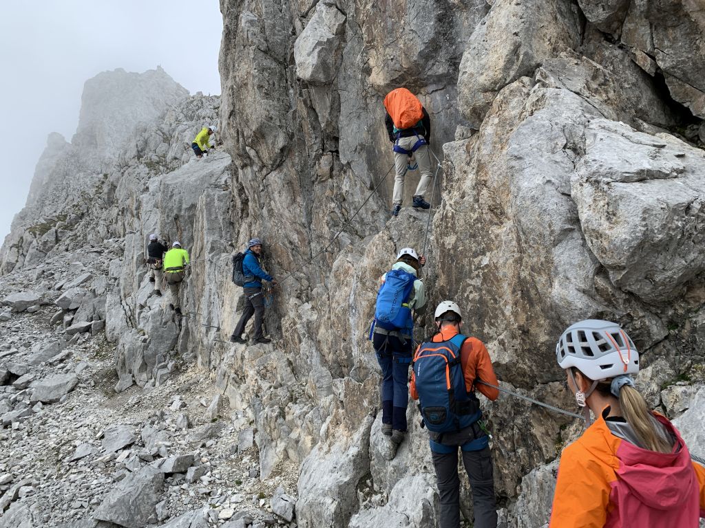
[[[230,340],[233,343],[247,343],[243,339],[243,332],[247,321],[255,315],[255,343],[271,343],[271,339],[264,337],[262,332],[262,324],[264,323],[264,296],[262,295],[262,280],[271,282],[276,286],[277,281],[274,277],[262,270],[259,265],[259,257],[262,255],[262,241],[260,239],[252,239],[247,242],[247,251],[243,259],[243,275],[245,275],[245,284],[243,286],[243,294],[245,295],[245,310],[243,315],[235,327]]]

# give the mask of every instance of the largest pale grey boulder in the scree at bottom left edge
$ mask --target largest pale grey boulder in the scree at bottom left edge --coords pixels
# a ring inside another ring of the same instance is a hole
[[[93,517],[125,528],[142,528],[155,515],[154,507],[159,502],[163,486],[163,473],[153,467],[142,467],[106,494]]]

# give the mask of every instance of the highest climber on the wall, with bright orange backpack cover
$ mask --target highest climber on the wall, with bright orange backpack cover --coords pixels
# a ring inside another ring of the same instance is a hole
[[[406,88],[392,90],[384,98],[387,114],[384,124],[389,141],[393,143],[394,191],[392,195],[392,215],[397,216],[404,199],[404,177],[409,169],[417,165],[421,177],[414,193],[412,206],[428,209],[431,207],[424,200],[431,183],[431,158],[429,144],[431,138],[431,119],[421,102]]]

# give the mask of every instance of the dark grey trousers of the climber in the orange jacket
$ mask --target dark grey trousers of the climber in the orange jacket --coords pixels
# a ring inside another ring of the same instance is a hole
[[[431,452],[438,479],[440,512],[439,528],[460,527],[460,478],[458,449],[452,453]],[[474,528],[496,528],[497,509],[494,498],[494,477],[489,447],[480,451],[461,451],[462,464],[472,488]]]

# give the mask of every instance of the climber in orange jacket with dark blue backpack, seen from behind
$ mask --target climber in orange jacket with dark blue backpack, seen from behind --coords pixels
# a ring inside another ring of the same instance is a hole
[[[497,526],[494,477],[487,428],[474,391],[490,400],[499,391],[489,353],[482,341],[460,334],[460,308],[443,301],[434,315],[438,333],[417,348],[411,396],[419,400],[423,425],[429,429],[431,456],[439,487],[439,528],[460,527],[458,448],[472,488],[475,528]],[[460,361],[458,361],[460,356]]]

